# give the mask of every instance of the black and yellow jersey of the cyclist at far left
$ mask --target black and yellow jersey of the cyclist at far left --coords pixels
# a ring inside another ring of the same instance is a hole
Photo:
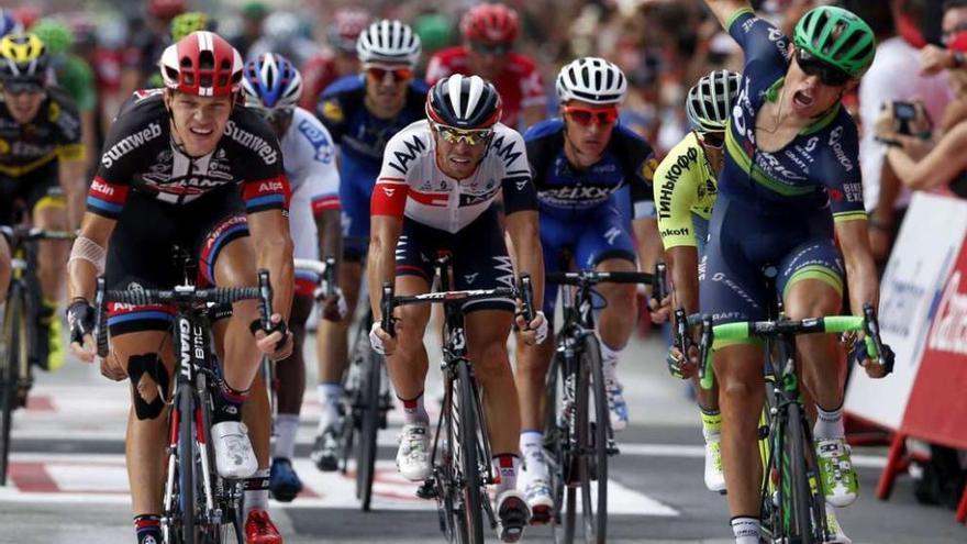
[[[14,121],[0,95],[0,176],[23,177],[55,159],[81,160],[80,115],[59,88],[48,87],[34,119]]]

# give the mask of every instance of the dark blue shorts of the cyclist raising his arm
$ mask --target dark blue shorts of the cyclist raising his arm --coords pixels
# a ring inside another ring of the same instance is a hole
[[[785,298],[803,279],[818,279],[843,293],[845,271],[829,210],[764,215],[720,195],[709,229],[715,235],[709,238],[699,274],[700,308],[718,323],[768,318],[774,293],[766,290],[764,273],[769,267],[777,270],[777,296]]]

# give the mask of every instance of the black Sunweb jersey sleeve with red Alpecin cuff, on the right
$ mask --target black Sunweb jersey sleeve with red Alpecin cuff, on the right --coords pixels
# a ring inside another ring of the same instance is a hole
[[[237,107],[222,137],[231,140],[233,156],[238,157],[232,162],[232,170],[234,178],[242,180],[245,212],[282,210],[288,213],[292,191],[282,165],[282,151],[265,121]]]

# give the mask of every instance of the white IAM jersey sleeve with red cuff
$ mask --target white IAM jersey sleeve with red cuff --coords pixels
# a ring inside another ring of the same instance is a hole
[[[416,154],[425,149],[426,143],[409,131],[399,132],[387,142],[382,167],[369,201],[370,215],[403,219],[410,190],[410,168],[418,162]]]

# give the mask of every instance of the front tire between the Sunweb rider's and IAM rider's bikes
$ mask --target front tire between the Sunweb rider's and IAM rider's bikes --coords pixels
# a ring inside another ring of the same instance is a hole
[[[359,410],[359,447],[356,449],[356,495],[364,512],[369,511],[373,501],[373,480],[376,475],[376,435],[379,432],[379,358],[373,349],[363,356],[364,367],[360,393],[363,406]]]

